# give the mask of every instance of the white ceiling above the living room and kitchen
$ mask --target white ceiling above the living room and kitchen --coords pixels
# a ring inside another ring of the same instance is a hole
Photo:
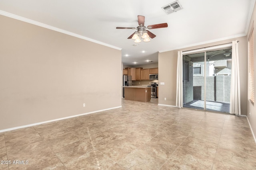
[[[161,7],[174,1],[0,0],[0,14],[15,14],[120,48],[122,62],[132,65],[148,64],[146,60],[158,63],[158,51],[246,35],[255,3],[255,0],[179,0],[183,9],[167,15]],[[137,27],[138,15],[145,16],[146,26],[168,23],[168,27],[150,29],[156,37],[133,46],[134,41],[127,38],[134,29],[116,27]]]

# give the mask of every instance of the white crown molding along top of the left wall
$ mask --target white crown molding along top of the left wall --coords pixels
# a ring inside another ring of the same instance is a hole
[[[87,41],[91,41],[93,43],[97,43],[97,44],[100,44],[100,45],[104,45],[106,47],[110,47],[110,48],[113,48],[113,49],[117,49],[117,50],[122,50],[121,48],[119,47],[116,47],[116,46],[113,46],[113,45],[109,45],[107,43],[103,43],[103,42],[100,42],[100,41],[96,41],[94,39],[91,39],[91,38],[88,38],[88,37],[84,37],[82,35],[78,35],[76,33],[72,33],[70,31],[66,31],[64,29],[60,29],[60,28],[57,28],[57,27],[53,27],[51,25],[47,25],[47,24],[44,24],[44,23],[41,23],[41,22],[38,22],[38,21],[34,21],[34,20],[30,20],[28,18],[24,18],[24,17],[21,17],[21,16],[17,16],[15,14],[11,14],[9,12],[5,12],[5,11],[2,11],[0,10],[0,15],[2,16],[7,16],[9,18],[14,18],[16,20],[20,20],[20,21],[24,21],[24,22],[27,22],[27,23],[31,23],[33,25],[37,25],[37,26],[40,26],[40,27],[44,27],[44,28],[47,28],[47,29],[51,29],[53,31],[58,31],[60,33],[64,33],[64,34],[67,34],[67,35],[71,35],[73,37],[77,37],[77,38],[80,38],[80,39],[84,39],[84,40],[87,40]]]

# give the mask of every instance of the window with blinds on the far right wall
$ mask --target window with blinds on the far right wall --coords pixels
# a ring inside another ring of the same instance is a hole
[[[248,98],[254,104],[254,55],[253,55],[254,28],[249,36],[249,62],[248,62]]]

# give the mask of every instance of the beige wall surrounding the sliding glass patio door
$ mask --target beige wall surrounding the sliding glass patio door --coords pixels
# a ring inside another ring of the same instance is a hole
[[[194,47],[188,47],[184,49],[178,49],[173,51],[167,51],[158,54],[158,73],[159,77],[159,91],[158,91],[158,104],[165,104],[170,106],[176,105],[176,75],[177,75],[177,57],[178,51],[188,51],[192,49],[198,49],[203,47],[209,47],[212,45],[220,45],[224,43],[232,43],[233,40],[239,41],[239,66],[240,66],[240,92],[241,92],[241,111],[243,115],[247,113],[247,39],[246,36],[238,37],[234,39],[228,39],[224,41],[218,41],[214,43],[208,43],[205,45],[198,45]],[[160,85],[160,82],[164,82],[164,85]],[[164,101],[166,98],[166,101]]]

